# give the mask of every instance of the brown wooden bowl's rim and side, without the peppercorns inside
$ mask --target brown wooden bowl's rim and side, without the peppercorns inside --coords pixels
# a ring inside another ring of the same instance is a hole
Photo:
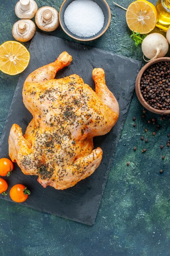
[[[151,65],[158,63],[158,62],[162,62],[162,61],[170,61],[170,58],[168,57],[163,57],[163,58],[157,58],[153,61],[148,62],[139,72],[137,79],[136,79],[136,85],[135,85],[135,90],[136,90],[136,94],[137,97],[140,101],[140,103],[144,106],[144,108],[146,108],[147,110],[159,114],[159,115],[168,115],[170,114],[170,110],[158,110],[155,108],[152,108],[144,99],[144,97],[141,94],[141,88],[140,88],[140,83],[141,83],[141,77],[143,76],[143,74],[146,72],[146,70],[148,69],[148,67],[150,67]]]

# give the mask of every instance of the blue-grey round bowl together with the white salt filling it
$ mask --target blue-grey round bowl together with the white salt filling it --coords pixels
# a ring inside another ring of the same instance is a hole
[[[59,20],[68,36],[79,41],[91,41],[106,32],[111,12],[106,0],[64,0]]]

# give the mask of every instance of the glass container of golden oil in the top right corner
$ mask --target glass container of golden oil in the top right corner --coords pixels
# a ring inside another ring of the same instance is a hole
[[[170,0],[158,0],[156,4],[158,23],[170,25]]]

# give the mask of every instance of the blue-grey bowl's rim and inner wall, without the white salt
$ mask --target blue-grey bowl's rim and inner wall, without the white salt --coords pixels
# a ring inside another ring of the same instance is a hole
[[[76,36],[71,31],[69,31],[69,29],[66,27],[66,24],[64,22],[64,12],[65,12],[66,8],[68,7],[68,5],[71,4],[71,2],[73,2],[73,1],[74,0],[64,0],[64,2],[62,3],[62,5],[60,7],[59,21],[60,21],[60,25],[61,25],[62,29],[64,30],[64,32],[68,36],[70,36],[78,41],[92,41],[92,40],[95,40],[96,38],[99,38],[100,36],[102,36],[108,29],[108,27],[110,25],[110,20],[111,20],[110,8],[109,8],[106,0],[93,0],[93,2],[96,2],[103,11],[104,25],[103,25],[102,29],[96,35],[89,36],[89,37]]]

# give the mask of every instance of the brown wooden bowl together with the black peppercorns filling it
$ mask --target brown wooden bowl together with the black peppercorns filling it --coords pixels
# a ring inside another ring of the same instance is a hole
[[[170,58],[157,58],[139,72],[135,86],[140,103],[149,111],[170,114]]]

